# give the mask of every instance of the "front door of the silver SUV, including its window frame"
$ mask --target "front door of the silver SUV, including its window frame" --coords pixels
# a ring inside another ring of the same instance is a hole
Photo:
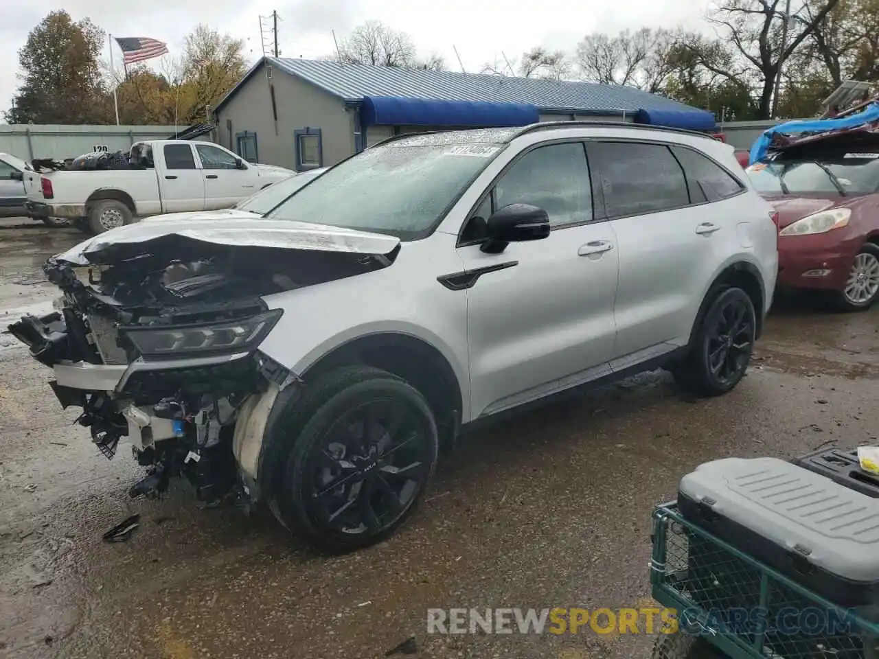
[[[510,204],[547,211],[543,240],[480,250],[461,235],[468,297],[471,410],[484,416],[610,373],[617,250],[609,222],[594,221],[582,141],[541,145],[509,165],[474,218]],[[477,232],[478,233],[478,232]]]

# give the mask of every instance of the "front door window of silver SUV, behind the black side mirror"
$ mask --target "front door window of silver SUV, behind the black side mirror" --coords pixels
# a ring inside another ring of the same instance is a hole
[[[592,190],[583,144],[535,148],[513,164],[495,187],[495,208],[510,204],[540,206],[553,227],[592,220]]]

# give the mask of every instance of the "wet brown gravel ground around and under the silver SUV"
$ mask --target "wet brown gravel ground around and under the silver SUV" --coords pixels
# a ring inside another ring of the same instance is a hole
[[[50,308],[40,264],[80,238],[0,221],[0,324]],[[649,656],[646,634],[428,635],[426,611],[648,602],[650,511],[686,471],[875,439],[877,320],[781,301],[730,395],[694,402],[647,373],[480,431],[402,532],[335,558],[183,483],[128,499],[127,446],[99,455],[0,334],[0,656],[360,658],[410,637],[438,659]],[[134,512],[131,540],[101,540]]]

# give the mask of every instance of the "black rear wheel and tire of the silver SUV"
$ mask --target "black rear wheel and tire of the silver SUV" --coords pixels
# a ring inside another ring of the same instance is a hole
[[[756,333],[757,315],[745,291],[727,287],[714,293],[689,354],[672,369],[675,381],[693,395],[726,394],[745,377]]]

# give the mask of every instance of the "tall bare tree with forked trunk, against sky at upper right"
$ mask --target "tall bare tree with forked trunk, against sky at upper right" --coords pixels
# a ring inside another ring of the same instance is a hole
[[[839,0],[816,0],[809,18],[783,15],[781,0],[721,0],[708,20],[718,28],[722,44],[730,45],[726,62],[703,64],[735,83],[742,65],[759,89],[759,118],[773,114],[774,86],[781,66],[809,38]],[[792,15],[795,13],[791,12]],[[798,13],[798,12],[797,12]],[[787,27],[785,27],[787,24]],[[712,45],[716,48],[716,45]]]

